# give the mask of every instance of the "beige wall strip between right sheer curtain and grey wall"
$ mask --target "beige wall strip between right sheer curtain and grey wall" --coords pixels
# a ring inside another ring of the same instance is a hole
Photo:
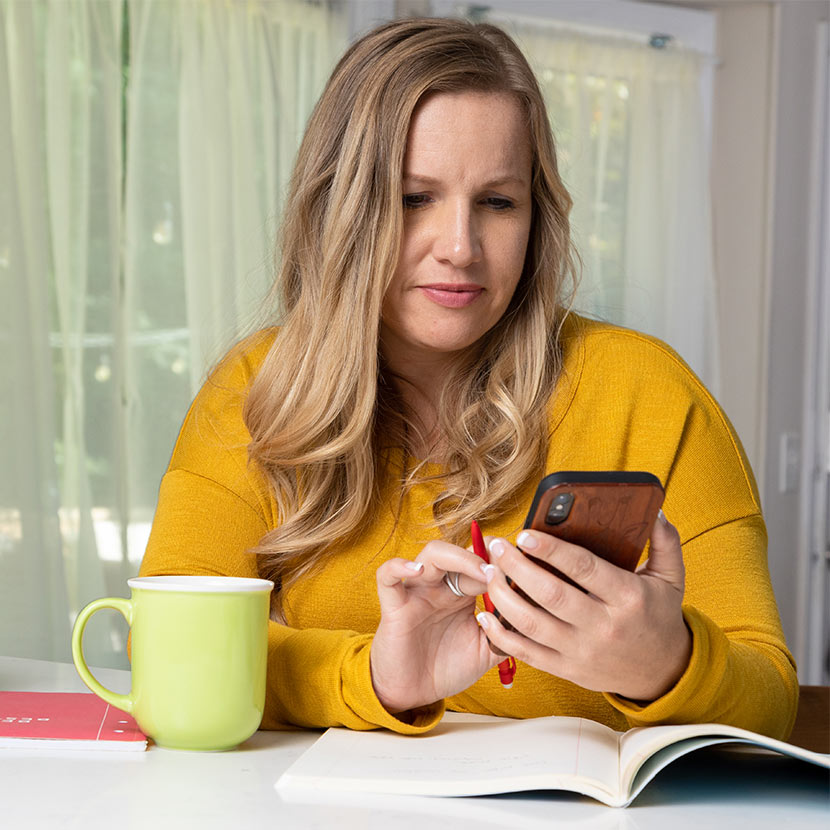
[[[759,485],[765,474],[766,271],[772,10],[717,10],[712,213],[721,326],[720,402]]]

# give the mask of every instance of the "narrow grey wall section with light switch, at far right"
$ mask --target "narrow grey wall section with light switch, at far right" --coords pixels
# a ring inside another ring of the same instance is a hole
[[[770,537],[770,570],[779,596],[784,628],[791,646],[802,653],[798,617],[798,581],[807,579],[806,549],[799,532],[801,502],[809,497],[799,484],[799,446],[804,422],[808,286],[811,267],[811,210],[815,135],[815,69],[818,23],[830,19],[827,0],[778,3],[775,34],[774,84],[770,157],[769,283],[767,306],[767,375],[764,509]],[[830,233],[824,228],[823,234]],[[825,325],[827,323],[825,322]],[[785,436],[795,439],[795,483],[782,492]],[[818,645],[818,644],[817,644]],[[814,679],[815,680],[815,679]],[[811,681],[813,682],[813,681]]]

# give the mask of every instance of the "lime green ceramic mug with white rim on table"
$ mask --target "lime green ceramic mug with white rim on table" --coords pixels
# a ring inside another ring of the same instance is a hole
[[[223,750],[259,728],[265,706],[267,579],[147,576],[127,580],[130,599],[89,603],[72,631],[72,658],[96,695],[129,712],[159,746]],[[90,673],[83,654],[89,618],[124,615],[132,634],[132,689],[119,695]]]

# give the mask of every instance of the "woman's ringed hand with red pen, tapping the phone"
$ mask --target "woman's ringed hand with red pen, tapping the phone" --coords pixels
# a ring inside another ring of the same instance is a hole
[[[372,683],[389,712],[457,694],[498,663],[475,618],[475,597],[486,588],[480,566],[472,552],[433,541],[414,561],[390,559],[378,568]],[[465,596],[444,582],[448,572],[461,574]]]

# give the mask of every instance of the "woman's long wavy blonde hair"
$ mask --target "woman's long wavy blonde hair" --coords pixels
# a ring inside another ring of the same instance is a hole
[[[381,305],[401,243],[412,113],[429,93],[463,91],[509,93],[524,108],[532,221],[506,313],[439,381],[443,492],[427,538],[467,544],[471,519],[514,508],[514,494],[543,472],[559,330],[576,274],[571,199],[544,101],[524,56],[495,26],[388,23],[349,48],[309,121],[269,304],[282,324],[244,407],[249,458],[279,511],[254,549],[278,586],[278,607],[281,590],[359,536],[390,477],[401,498],[428,478],[424,463],[406,460],[420,424],[379,353]]]

